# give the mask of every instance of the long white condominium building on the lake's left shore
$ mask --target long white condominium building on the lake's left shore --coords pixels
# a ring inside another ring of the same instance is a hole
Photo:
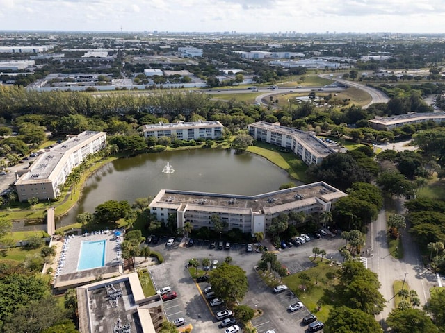
[[[45,149],[15,182],[20,201],[56,198],[60,193],[59,185],[63,185],[72,169],[81,164],[86,156],[106,146],[105,132],[87,130],[67,137],[67,140],[54,148]]]

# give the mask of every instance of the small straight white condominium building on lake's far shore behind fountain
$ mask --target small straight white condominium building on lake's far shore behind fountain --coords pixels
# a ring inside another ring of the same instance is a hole
[[[171,137],[181,140],[219,139],[223,135],[223,124],[219,121],[195,121],[191,123],[156,123],[144,126],[145,137]]]

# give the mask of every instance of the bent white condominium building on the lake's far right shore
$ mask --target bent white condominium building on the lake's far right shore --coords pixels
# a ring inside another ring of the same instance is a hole
[[[327,155],[340,151],[337,142],[323,142],[311,132],[280,126],[280,123],[259,121],[248,128],[249,134],[258,141],[289,149],[308,165],[319,164]]]

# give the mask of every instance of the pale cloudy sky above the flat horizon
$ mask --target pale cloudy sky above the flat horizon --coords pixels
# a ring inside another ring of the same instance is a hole
[[[0,0],[0,30],[445,33],[444,0]]]

